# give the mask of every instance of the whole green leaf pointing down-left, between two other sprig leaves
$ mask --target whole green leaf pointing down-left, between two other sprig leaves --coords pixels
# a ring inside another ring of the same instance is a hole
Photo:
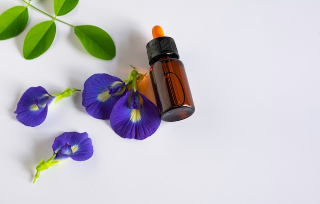
[[[25,59],[34,59],[47,51],[56,35],[56,24],[53,20],[35,25],[27,33],[23,54]]]

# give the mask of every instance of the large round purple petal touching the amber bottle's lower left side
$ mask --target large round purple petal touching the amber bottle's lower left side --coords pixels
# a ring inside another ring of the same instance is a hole
[[[138,92],[127,92],[115,104],[110,115],[112,129],[122,138],[146,139],[160,123],[156,106]]]

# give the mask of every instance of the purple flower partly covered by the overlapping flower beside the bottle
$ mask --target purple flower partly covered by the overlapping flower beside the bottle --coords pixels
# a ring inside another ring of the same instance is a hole
[[[84,82],[82,105],[89,115],[109,119],[113,105],[128,91],[118,77],[95,74]]]

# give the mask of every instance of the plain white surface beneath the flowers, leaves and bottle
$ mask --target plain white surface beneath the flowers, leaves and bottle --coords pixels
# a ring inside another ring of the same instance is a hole
[[[32,4],[52,14],[52,2]],[[16,5],[25,3],[1,0],[0,12]],[[50,19],[29,14],[24,32],[0,41],[0,203],[320,203],[319,1],[92,0],[58,17],[107,31],[117,49],[111,61],[90,56],[58,21],[51,48],[25,60],[27,32]],[[147,73],[155,25],[176,41],[193,116],[162,122],[143,141],[123,139],[89,116],[77,93],[37,127],[15,119],[31,86],[82,89],[96,73],[125,79],[130,64]],[[86,131],[93,157],[51,167],[32,184],[67,131]]]

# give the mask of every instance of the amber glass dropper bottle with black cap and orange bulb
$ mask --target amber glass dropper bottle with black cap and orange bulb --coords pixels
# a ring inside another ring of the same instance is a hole
[[[164,121],[179,121],[191,116],[194,103],[184,64],[179,60],[174,39],[164,35],[160,26],[152,28],[153,39],[147,44],[150,78]]]

